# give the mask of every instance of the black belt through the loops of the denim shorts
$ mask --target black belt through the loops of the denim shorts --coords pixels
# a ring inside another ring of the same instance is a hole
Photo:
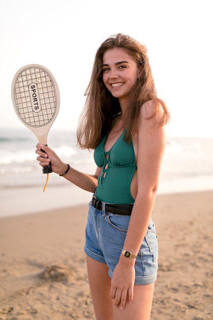
[[[94,208],[102,210],[102,201],[98,200],[96,197],[92,197],[91,201]],[[105,204],[105,211],[117,215],[130,216],[132,212],[133,204]]]

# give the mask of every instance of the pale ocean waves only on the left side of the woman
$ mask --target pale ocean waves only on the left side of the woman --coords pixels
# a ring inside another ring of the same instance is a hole
[[[38,187],[43,185],[45,174],[36,160],[36,136],[27,128],[0,129],[0,189]],[[76,132],[54,131],[48,135],[48,145],[74,167],[92,165],[92,152],[77,147]],[[63,185],[64,179],[50,174],[51,185]]]

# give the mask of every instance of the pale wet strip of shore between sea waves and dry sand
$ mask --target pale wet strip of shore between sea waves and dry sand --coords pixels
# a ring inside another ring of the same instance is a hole
[[[213,176],[191,177],[184,180],[160,181],[156,197],[209,191],[213,191]],[[91,200],[91,196],[91,193],[70,184],[66,180],[59,185],[51,185],[50,182],[45,192],[43,192],[43,186],[2,188],[0,189],[0,219],[23,214],[35,214],[40,211],[59,210],[82,203],[87,204]]]

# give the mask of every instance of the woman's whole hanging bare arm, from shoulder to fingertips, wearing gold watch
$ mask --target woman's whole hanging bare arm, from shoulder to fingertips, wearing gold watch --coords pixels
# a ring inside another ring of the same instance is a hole
[[[159,114],[151,119],[152,102],[146,103],[141,112],[138,129],[137,195],[124,243],[124,249],[137,255],[152,214],[155,195],[161,171],[162,157],[166,144],[165,127],[159,125]],[[111,298],[115,306],[125,307],[126,299],[133,300],[135,259],[127,259],[121,254],[113,272]]]

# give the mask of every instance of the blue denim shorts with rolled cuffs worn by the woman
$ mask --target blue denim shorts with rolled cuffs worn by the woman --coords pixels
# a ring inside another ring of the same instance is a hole
[[[130,216],[97,210],[89,203],[84,252],[92,259],[106,263],[109,277],[119,262]],[[149,222],[147,233],[135,261],[135,284],[150,284],[157,279],[158,243],[155,225]]]

